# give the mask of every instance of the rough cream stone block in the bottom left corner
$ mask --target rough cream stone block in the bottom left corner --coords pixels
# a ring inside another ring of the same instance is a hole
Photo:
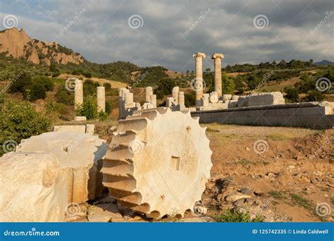
[[[8,153],[0,158],[0,222],[61,222],[67,187],[53,154]]]

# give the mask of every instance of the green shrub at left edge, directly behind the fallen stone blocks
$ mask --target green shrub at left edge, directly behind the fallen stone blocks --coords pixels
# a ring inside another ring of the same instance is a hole
[[[28,102],[18,102],[6,99],[0,110],[0,145],[6,140],[20,143],[22,139],[47,132],[51,127],[51,120],[47,115],[39,113]],[[4,149],[0,148],[0,156]]]

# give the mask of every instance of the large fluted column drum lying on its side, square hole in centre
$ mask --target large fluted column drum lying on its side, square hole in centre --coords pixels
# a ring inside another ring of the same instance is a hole
[[[113,134],[103,183],[118,204],[155,218],[183,216],[202,197],[211,153],[205,128],[189,112],[135,111]]]

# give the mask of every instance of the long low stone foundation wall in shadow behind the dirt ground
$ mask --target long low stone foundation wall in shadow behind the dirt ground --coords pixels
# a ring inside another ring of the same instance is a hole
[[[324,104],[300,103],[273,106],[241,107],[215,111],[193,111],[200,123],[235,125],[293,126],[333,128],[333,107]]]

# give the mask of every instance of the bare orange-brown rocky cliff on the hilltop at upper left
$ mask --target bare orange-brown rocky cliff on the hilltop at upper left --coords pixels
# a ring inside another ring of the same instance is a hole
[[[32,63],[44,63],[47,66],[51,62],[80,64],[84,61],[80,54],[71,49],[62,47],[56,42],[31,39],[25,30],[18,30],[16,27],[0,32],[0,53],[6,53],[7,56],[14,58],[23,57]]]

